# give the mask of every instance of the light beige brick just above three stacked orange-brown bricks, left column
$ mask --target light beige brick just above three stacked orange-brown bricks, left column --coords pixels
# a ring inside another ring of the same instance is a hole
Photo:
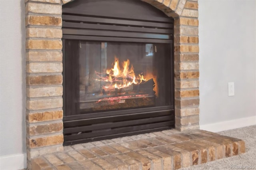
[[[53,108],[59,108],[59,107],[63,107],[62,98],[26,101],[26,109],[29,109],[29,110],[53,109]]]

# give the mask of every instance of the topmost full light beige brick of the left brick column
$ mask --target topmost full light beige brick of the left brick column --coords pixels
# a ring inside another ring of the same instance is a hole
[[[26,4],[26,13],[40,13],[40,14],[62,14],[62,6],[54,4],[39,4],[28,2]]]

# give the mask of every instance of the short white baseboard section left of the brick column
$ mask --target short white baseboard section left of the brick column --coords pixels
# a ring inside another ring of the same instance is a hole
[[[20,170],[24,168],[27,168],[26,153],[0,157],[0,170]]]

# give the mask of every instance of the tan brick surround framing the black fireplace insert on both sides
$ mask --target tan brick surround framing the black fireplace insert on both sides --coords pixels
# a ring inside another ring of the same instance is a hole
[[[63,150],[62,4],[26,3],[26,145],[28,162]],[[199,128],[198,2],[142,0],[173,17],[176,130]]]

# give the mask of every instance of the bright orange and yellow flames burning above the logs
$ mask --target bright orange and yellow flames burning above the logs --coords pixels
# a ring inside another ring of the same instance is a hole
[[[115,61],[113,63],[113,68],[107,69],[106,73],[109,75],[108,81],[115,84],[112,84],[114,88],[123,88],[128,87],[132,84],[139,84],[146,81],[143,73],[138,74],[137,76],[134,73],[134,67],[131,65],[130,60],[122,62],[122,69],[119,65],[119,59],[115,57]]]

